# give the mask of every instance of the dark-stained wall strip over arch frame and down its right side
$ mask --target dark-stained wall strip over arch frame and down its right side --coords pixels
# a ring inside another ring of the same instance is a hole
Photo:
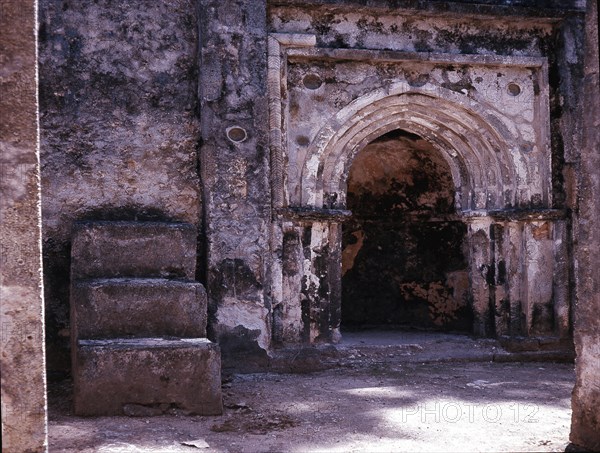
[[[573,201],[572,164],[581,149],[577,109],[585,2],[544,2],[543,7],[533,1],[467,3],[420,2],[391,9],[376,1],[277,0],[270,2],[269,27],[279,33],[314,33],[317,45],[328,48],[547,57],[552,199],[556,207],[572,206],[565,204]]]

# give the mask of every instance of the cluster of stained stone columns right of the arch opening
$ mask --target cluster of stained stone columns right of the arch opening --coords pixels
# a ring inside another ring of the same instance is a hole
[[[467,218],[474,333],[569,335],[567,221],[560,210]]]

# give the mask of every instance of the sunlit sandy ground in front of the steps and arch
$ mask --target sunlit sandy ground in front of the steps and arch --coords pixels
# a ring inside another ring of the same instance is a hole
[[[565,450],[572,364],[490,362],[480,353],[495,348],[489,342],[428,339],[394,349],[377,338],[361,348],[363,340],[353,338],[332,369],[226,376],[225,413],[217,417],[75,417],[69,383],[55,383],[50,451]],[[475,361],[465,359],[469,351]]]

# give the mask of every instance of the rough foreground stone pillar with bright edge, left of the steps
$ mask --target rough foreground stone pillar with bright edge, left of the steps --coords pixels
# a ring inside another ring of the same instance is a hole
[[[47,447],[36,9],[0,2],[3,452]]]

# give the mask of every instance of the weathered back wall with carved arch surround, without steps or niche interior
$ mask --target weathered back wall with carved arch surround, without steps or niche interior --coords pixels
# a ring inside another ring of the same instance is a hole
[[[358,3],[40,2],[50,369],[68,368],[75,220],[198,226],[197,279],[225,360],[337,340],[346,178],[363,145],[398,127],[437,146],[450,168],[470,244],[460,286],[472,288],[473,331],[570,335],[581,5]],[[399,102],[386,104],[382,90]],[[458,120],[487,128],[482,138],[436,133],[431,121],[447,123],[450,110],[431,96],[461,106],[452,114],[475,112]],[[420,126],[406,113],[413,100],[434,112]],[[352,102],[363,104],[336,119]],[[319,148],[325,126],[356,128],[357,114],[377,114],[374,102],[395,122],[370,123],[351,153],[327,134],[331,146]],[[317,173],[310,156],[324,159]]]

